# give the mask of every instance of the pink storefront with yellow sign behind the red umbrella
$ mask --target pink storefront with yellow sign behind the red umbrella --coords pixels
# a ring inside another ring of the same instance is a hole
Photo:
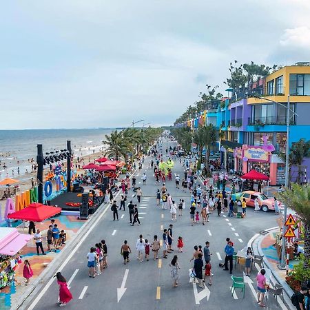
[[[270,185],[279,185],[284,182],[283,163],[277,155],[271,154],[273,145],[242,145],[234,151],[235,170],[246,174],[255,169],[269,176]]]

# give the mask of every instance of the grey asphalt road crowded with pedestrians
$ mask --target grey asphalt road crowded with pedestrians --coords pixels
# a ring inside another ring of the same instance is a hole
[[[176,145],[174,142],[165,143],[165,147]],[[254,214],[253,209],[248,208],[246,219],[218,217],[211,214],[210,222],[207,225],[191,226],[189,221],[189,192],[186,194],[181,189],[176,189],[174,182],[167,182],[167,189],[170,194],[178,201],[180,198],[185,199],[184,215],[177,216],[177,222],[174,224],[174,249],[176,249],[176,239],[183,236],[185,248],[183,253],[178,254],[180,263],[180,283],[179,287],[172,287],[172,278],[170,277],[169,262],[172,254],[168,259],[152,260],[149,262],[138,262],[136,260],[136,240],[139,234],[143,234],[152,242],[154,234],[162,238],[163,231],[161,228],[167,228],[171,222],[168,210],[162,210],[156,207],[154,198],[156,189],[153,172],[147,169],[147,158],[142,172],[136,174],[137,182],[141,182],[143,190],[143,199],[139,205],[139,214],[141,226],[130,226],[129,214],[126,211],[119,211],[120,220],[112,220],[112,211],[110,207],[103,216],[101,222],[87,237],[87,240],[81,244],[76,251],[72,260],[65,265],[63,275],[67,280],[76,273],[71,283],[71,291],[74,300],[66,308],[68,309],[258,309],[254,294],[247,285],[245,298],[242,293],[237,291],[234,297],[231,296],[229,287],[231,285],[231,276],[227,271],[218,267],[219,258],[224,258],[225,238],[228,236],[234,241],[236,250],[247,246],[248,240],[254,234],[276,226],[276,216],[273,213]],[[147,185],[142,185],[141,174],[146,172]],[[179,163],[175,164],[174,173],[183,176],[183,168]],[[130,192],[132,194],[132,192]],[[136,198],[133,198],[136,202]],[[109,267],[105,269],[101,276],[89,278],[87,276],[87,252],[91,246],[101,239],[107,241]],[[123,265],[123,258],[120,254],[120,248],[123,240],[127,239],[133,254],[131,262]],[[213,254],[211,258],[212,271],[214,273],[213,285],[208,287],[210,291],[209,300],[203,298],[204,291],[198,286],[189,283],[189,268],[192,263],[189,259],[192,257],[194,245],[205,245],[205,241],[211,243],[210,249]],[[152,255],[152,253],[151,253]],[[79,269],[79,271],[76,271]],[[128,271],[126,271],[128,270]],[[117,288],[121,287],[125,273],[127,280],[125,282],[125,293],[121,300],[117,300]],[[242,269],[238,267],[234,270],[235,276],[242,276]],[[253,272],[255,273],[255,272]],[[251,276],[254,280],[255,276]],[[48,280],[46,280],[48,281]],[[256,282],[254,280],[254,288]],[[194,293],[197,291],[198,293]],[[56,282],[48,289],[43,297],[34,307],[34,309],[56,309],[56,300],[58,298],[58,287]],[[202,298],[201,300],[199,300]],[[197,302],[200,302],[199,304]],[[273,298],[269,298],[267,309],[281,309]]]

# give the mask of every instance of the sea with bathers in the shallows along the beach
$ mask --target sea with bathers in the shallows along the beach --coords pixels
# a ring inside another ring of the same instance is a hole
[[[103,149],[105,135],[114,129],[0,130],[0,179],[30,178],[31,160],[37,158],[37,145],[45,152],[66,149],[71,141],[74,156],[85,156]],[[3,167],[5,166],[5,167]],[[18,174],[19,168],[19,174]]]

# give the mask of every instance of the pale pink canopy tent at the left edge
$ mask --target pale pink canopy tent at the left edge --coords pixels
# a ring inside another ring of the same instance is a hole
[[[17,254],[31,238],[31,235],[20,234],[16,228],[0,227],[0,254]]]

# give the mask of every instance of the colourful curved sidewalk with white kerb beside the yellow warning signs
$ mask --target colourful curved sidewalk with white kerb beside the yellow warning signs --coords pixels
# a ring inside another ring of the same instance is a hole
[[[293,295],[293,290],[287,285],[285,281],[286,270],[278,269],[278,264],[280,259],[276,251],[276,247],[273,244],[276,242],[275,236],[280,231],[280,228],[273,227],[267,229],[266,231],[261,231],[260,234],[256,234],[250,241],[249,245],[254,249],[254,254],[264,256],[264,266],[271,270],[273,278],[271,278],[271,284],[274,286],[278,282],[283,287],[283,296],[285,305],[288,309],[295,309],[293,304],[291,304],[291,296]],[[265,234],[266,233],[266,234]],[[293,268],[296,261],[290,261],[289,269]],[[278,298],[279,300],[279,298]]]

